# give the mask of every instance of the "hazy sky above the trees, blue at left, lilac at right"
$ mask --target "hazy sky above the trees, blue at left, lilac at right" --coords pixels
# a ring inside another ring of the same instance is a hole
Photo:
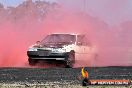
[[[17,6],[24,0],[0,0],[5,6]],[[56,1],[62,6],[84,11],[110,25],[132,20],[132,0],[46,0]]]

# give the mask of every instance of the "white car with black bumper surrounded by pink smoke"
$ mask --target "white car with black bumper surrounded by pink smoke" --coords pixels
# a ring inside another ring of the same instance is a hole
[[[85,35],[80,34],[50,34],[41,42],[29,47],[28,62],[35,65],[38,60],[47,62],[63,62],[65,67],[73,67],[76,54],[92,54],[90,43],[86,42]]]

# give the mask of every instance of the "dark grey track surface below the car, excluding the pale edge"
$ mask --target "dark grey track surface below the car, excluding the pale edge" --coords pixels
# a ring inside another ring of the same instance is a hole
[[[132,67],[86,68],[90,79],[132,79]],[[0,68],[0,83],[71,82],[77,79],[81,68]]]

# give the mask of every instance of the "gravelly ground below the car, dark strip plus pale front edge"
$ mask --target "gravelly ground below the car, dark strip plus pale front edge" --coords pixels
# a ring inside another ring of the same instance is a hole
[[[131,67],[86,67],[90,79],[132,79]],[[83,88],[81,68],[0,68],[0,88]],[[87,88],[126,88],[88,86]],[[130,86],[127,88],[130,88]]]

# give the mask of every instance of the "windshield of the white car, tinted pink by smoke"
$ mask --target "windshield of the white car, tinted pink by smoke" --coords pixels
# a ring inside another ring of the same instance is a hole
[[[75,35],[70,34],[51,34],[46,36],[42,44],[73,44],[75,43]]]

